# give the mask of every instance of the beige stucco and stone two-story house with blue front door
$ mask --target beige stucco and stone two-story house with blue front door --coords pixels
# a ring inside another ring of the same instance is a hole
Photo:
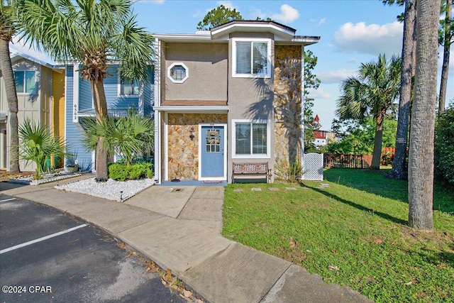
[[[273,21],[155,34],[155,177],[231,182],[233,162],[302,162],[304,47]]]

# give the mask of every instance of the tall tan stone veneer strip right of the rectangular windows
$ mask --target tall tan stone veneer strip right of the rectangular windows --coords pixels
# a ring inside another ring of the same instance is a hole
[[[301,46],[275,48],[275,176],[282,175],[282,161],[301,160]]]

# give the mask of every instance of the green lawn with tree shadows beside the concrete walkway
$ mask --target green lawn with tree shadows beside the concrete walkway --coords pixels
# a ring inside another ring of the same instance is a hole
[[[436,186],[436,228],[417,232],[407,226],[407,182],[382,172],[331,169],[323,182],[229,184],[223,234],[376,302],[454,302],[453,192]]]

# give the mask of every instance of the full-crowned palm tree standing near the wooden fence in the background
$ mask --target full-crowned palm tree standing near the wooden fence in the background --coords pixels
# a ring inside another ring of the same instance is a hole
[[[365,119],[372,115],[375,119],[374,151],[371,168],[380,169],[382,153],[383,121],[387,113],[394,109],[399,97],[401,60],[393,56],[387,61],[384,55],[377,62],[362,63],[358,77],[345,79],[341,84],[343,94],[337,101],[336,114],[341,120]]]

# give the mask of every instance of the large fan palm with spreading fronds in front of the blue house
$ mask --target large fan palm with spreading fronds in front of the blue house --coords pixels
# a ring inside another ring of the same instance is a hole
[[[23,35],[63,62],[80,66],[92,87],[96,121],[107,116],[103,81],[109,64],[121,79],[145,81],[153,60],[153,37],[139,28],[129,0],[21,0]],[[107,180],[109,154],[98,138],[96,181]]]

